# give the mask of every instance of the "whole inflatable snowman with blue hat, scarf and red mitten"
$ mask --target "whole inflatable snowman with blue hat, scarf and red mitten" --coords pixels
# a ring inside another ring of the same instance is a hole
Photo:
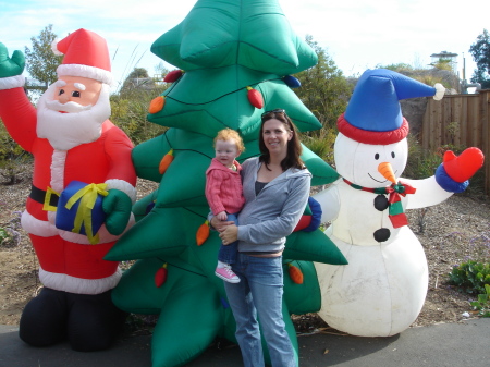
[[[334,145],[340,179],[314,197],[322,207],[326,233],[347,266],[316,264],[322,292],[320,317],[354,335],[389,337],[411,326],[427,294],[424,249],[406,225],[406,209],[439,204],[464,191],[482,166],[477,148],[460,157],[448,151],[436,175],[402,179],[408,123],[399,100],[434,96],[429,87],[389,70],[368,70],[338,120]]]

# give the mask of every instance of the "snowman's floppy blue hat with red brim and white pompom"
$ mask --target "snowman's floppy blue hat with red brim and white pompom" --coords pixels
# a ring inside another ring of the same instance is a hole
[[[441,99],[444,90],[440,84],[430,87],[391,70],[367,70],[357,82],[345,113],[339,118],[339,131],[364,144],[397,143],[408,134],[399,101],[430,96]]]

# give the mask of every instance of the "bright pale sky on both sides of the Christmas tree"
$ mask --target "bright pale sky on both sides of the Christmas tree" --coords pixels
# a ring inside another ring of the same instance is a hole
[[[40,3],[42,5],[40,5]],[[134,68],[150,75],[163,62],[151,44],[186,16],[196,0],[0,0],[0,42],[11,54],[32,48],[49,24],[63,38],[78,28],[102,36],[112,58],[114,79],[122,84]],[[426,68],[432,53],[457,53],[457,71],[466,79],[476,64],[469,47],[490,29],[489,0],[279,0],[293,30],[313,36],[345,76],[377,65],[407,63]],[[481,14],[471,19],[474,14]],[[163,62],[167,69],[174,69]]]

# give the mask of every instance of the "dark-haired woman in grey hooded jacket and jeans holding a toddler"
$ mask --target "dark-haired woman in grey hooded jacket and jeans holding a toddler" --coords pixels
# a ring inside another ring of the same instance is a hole
[[[264,366],[260,327],[273,367],[296,366],[282,317],[282,252],[306,207],[311,174],[304,167],[297,131],[284,110],[262,113],[259,136],[261,155],[242,166],[245,206],[240,225],[211,224],[224,245],[238,241],[233,271],[240,283],[224,283],[236,321],[246,367]]]

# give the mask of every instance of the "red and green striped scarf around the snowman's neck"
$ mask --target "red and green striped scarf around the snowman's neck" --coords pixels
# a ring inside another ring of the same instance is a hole
[[[356,184],[353,184],[351,181],[343,179],[344,182],[350,185],[351,187],[355,189],[362,189],[364,192],[373,193],[378,195],[389,195],[388,197],[388,205],[389,205],[389,212],[388,218],[391,220],[391,224],[393,224],[393,228],[400,228],[403,225],[408,224],[408,219],[406,218],[403,206],[402,206],[402,198],[401,196],[406,196],[407,194],[414,194],[416,188],[404,184],[402,182],[399,182],[396,184],[392,184],[388,187],[378,187],[378,188],[370,188],[370,187],[363,187]]]

